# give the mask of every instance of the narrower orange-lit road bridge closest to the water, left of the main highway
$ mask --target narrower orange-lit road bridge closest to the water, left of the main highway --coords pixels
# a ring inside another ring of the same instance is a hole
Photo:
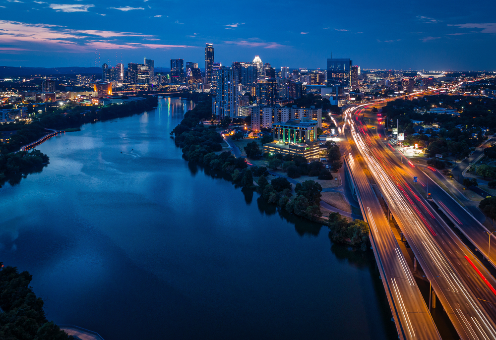
[[[344,129],[342,136],[345,137]],[[345,137],[346,139],[346,137]],[[400,339],[440,339],[424,298],[401,253],[380,203],[360,164],[344,142],[345,162],[357,186],[364,219],[369,223],[372,249]]]

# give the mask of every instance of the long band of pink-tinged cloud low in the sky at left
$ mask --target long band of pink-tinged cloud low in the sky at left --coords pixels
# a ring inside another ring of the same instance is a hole
[[[133,32],[74,30],[57,25],[0,20],[0,41],[2,46],[8,46],[11,51],[83,53],[95,48],[102,50],[195,48],[187,45],[134,43],[132,39],[143,41],[155,38]]]

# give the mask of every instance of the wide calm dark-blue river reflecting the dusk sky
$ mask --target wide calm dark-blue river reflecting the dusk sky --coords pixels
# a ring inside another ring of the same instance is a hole
[[[371,251],[182,159],[191,105],[51,138],[48,167],[0,189],[0,261],[47,318],[105,340],[397,339]]]

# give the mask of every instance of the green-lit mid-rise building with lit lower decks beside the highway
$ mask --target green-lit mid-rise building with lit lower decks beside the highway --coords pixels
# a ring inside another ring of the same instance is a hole
[[[272,124],[274,141],[263,146],[264,152],[304,156],[307,160],[318,158],[317,121],[290,119]]]

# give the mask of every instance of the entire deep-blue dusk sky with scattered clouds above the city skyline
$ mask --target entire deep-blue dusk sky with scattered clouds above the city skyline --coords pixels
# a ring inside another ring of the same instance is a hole
[[[0,0],[0,65],[171,58],[325,68],[496,70],[493,1]],[[117,57],[116,57],[117,56]]]

